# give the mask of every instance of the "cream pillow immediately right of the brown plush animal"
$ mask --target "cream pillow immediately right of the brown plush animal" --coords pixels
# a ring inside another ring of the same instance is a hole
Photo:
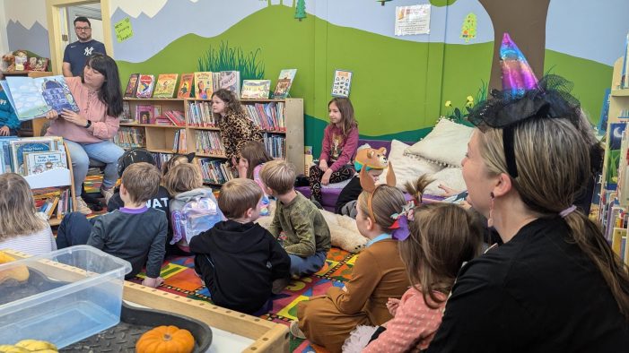
[[[389,152],[389,161],[396,172],[396,186],[402,191],[406,191],[404,187],[406,182],[414,183],[419,176],[423,176],[426,173],[437,173],[442,168],[419,156],[405,155],[404,151],[408,147],[404,142],[393,140],[391,141],[391,151]],[[388,171],[389,169],[384,169],[384,172],[380,175],[379,184],[387,183]]]

